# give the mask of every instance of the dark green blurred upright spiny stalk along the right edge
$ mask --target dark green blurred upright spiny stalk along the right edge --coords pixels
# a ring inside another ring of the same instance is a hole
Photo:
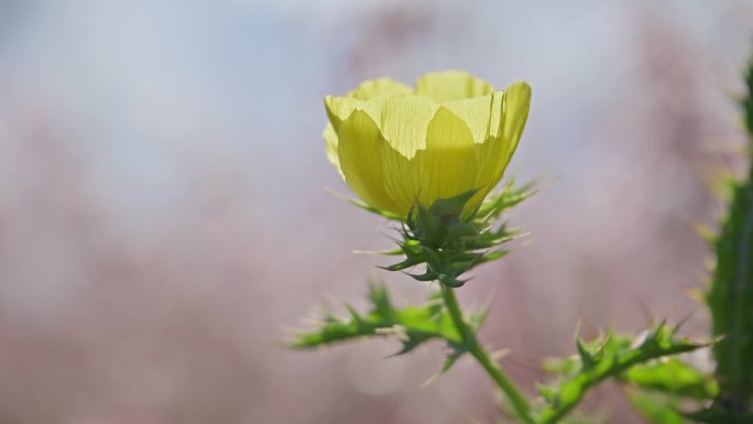
[[[744,122],[753,142],[753,64],[742,100]],[[753,167],[747,180],[732,183],[729,214],[714,242],[717,264],[707,302],[713,319],[718,409],[747,411],[753,399]],[[753,422],[753,421],[752,421]]]

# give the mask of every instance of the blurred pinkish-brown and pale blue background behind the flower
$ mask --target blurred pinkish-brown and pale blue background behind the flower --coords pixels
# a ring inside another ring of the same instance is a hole
[[[730,96],[749,0],[0,1],[0,423],[493,423],[441,346],[284,349],[370,279],[390,226],[325,191],[323,97],[458,68],[533,106],[509,175],[527,242],[460,293],[533,392],[538,361],[654,317],[703,335],[694,298],[741,146]],[[586,410],[641,423],[618,388]]]

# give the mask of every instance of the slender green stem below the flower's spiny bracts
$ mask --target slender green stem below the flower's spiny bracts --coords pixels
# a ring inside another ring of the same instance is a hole
[[[515,410],[517,416],[521,420],[523,420],[523,422],[525,422],[526,424],[534,424],[534,420],[531,416],[531,406],[528,405],[528,401],[526,401],[525,396],[523,396],[523,394],[517,389],[515,383],[513,383],[512,380],[510,380],[510,378],[504,373],[504,371],[502,371],[502,368],[500,368],[500,366],[489,357],[487,350],[479,344],[479,340],[476,338],[476,334],[473,333],[473,330],[468,326],[466,320],[462,318],[460,306],[458,305],[458,301],[455,297],[455,291],[450,287],[444,287],[443,297],[445,300],[447,311],[452,317],[455,327],[460,333],[460,336],[462,337],[462,340],[466,344],[466,346],[468,346],[468,349],[471,352],[471,355],[473,355],[476,360],[479,361],[481,367],[483,367],[489,377],[491,377],[492,380],[494,380],[496,385],[504,392],[504,394],[508,395],[508,399],[510,399],[510,402],[512,403],[512,406]]]

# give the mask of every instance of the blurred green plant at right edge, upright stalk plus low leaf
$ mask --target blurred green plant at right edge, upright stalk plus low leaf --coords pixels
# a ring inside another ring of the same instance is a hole
[[[719,233],[709,237],[716,263],[706,303],[716,338],[716,372],[701,374],[679,358],[626,373],[631,402],[652,423],[753,423],[753,62],[744,80],[740,106],[749,172],[723,182],[720,195],[729,210]]]

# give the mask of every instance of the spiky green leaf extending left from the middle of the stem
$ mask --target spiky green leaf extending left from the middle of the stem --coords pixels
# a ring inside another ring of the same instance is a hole
[[[297,334],[290,346],[305,349],[363,337],[394,337],[403,345],[395,355],[403,355],[425,341],[439,339],[446,341],[450,348],[443,372],[468,351],[444,306],[441,294],[434,293],[422,306],[396,308],[384,285],[371,284],[368,298],[371,309],[367,314],[359,314],[350,305],[346,305],[347,317],[326,312],[317,328]],[[485,316],[485,311],[469,316],[468,324],[472,330],[478,329]]]

